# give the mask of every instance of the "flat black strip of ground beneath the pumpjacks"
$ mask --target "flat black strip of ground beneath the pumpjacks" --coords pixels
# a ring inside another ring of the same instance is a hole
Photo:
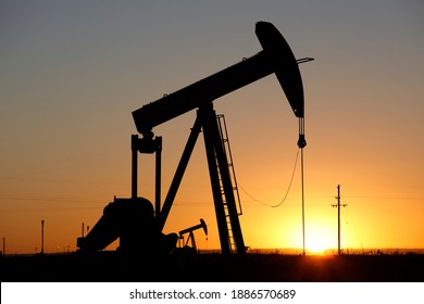
[[[128,262],[102,252],[95,256],[7,256],[0,259],[0,274],[2,282],[423,282],[424,255],[198,254]]]

